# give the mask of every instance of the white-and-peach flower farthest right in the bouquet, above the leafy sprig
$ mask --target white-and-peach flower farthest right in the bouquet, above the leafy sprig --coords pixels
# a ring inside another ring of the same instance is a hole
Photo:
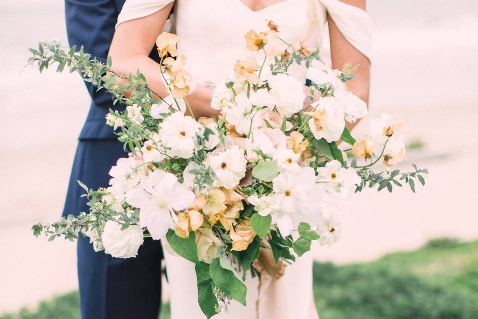
[[[380,119],[370,120],[370,134],[375,141],[384,141],[393,138],[403,141],[405,122],[395,115],[383,114]]]

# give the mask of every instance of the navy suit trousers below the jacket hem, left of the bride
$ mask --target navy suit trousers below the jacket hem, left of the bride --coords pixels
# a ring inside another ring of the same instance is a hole
[[[114,139],[80,140],[73,163],[63,215],[88,212],[85,191],[107,187],[108,172],[126,157]],[[78,239],[78,279],[82,319],[157,319],[161,304],[159,240],[145,239],[136,258],[113,258],[95,252],[89,238]]]

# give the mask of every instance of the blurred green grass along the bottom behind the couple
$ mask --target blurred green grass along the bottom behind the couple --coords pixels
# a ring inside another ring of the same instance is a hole
[[[478,241],[434,240],[370,263],[316,263],[314,294],[321,319],[477,319]],[[0,319],[76,319],[78,303],[72,292]],[[160,318],[168,313],[167,304]]]

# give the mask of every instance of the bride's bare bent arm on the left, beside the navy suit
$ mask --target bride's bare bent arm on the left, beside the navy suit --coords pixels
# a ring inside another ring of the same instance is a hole
[[[162,98],[166,95],[160,65],[149,57],[161,33],[173,2],[161,10],[134,20],[120,23],[111,43],[109,56],[116,73],[136,74],[139,69],[147,79],[149,87]],[[188,101],[196,117],[217,116],[218,111],[211,109],[212,89],[198,86],[188,96]]]

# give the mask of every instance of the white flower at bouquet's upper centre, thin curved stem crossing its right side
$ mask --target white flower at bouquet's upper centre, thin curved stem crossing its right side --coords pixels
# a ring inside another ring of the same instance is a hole
[[[231,103],[225,112],[226,121],[235,126],[236,132],[247,135],[262,125],[260,111],[252,109],[252,104],[244,94],[237,95],[235,101],[236,104]]]

